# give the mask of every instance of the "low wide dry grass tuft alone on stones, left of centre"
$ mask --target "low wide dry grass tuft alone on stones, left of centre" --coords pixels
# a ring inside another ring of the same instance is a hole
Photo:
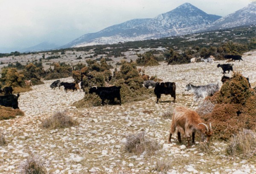
[[[68,128],[78,125],[78,122],[65,112],[57,112],[52,117],[42,120],[43,128]]]

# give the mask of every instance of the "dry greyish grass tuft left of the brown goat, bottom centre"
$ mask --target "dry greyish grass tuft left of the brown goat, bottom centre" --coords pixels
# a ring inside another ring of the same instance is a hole
[[[146,154],[150,155],[160,149],[160,145],[156,141],[145,138],[144,132],[129,134],[126,139],[125,151],[128,151],[129,153],[140,155],[143,152],[146,152]]]

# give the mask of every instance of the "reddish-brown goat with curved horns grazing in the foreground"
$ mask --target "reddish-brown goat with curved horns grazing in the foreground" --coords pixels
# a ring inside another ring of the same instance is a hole
[[[190,147],[191,136],[192,143],[195,143],[195,133],[197,131],[201,132],[201,139],[203,142],[209,142],[210,137],[212,136],[211,123],[210,128],[208,128],[196,111],[190,110],[184,106],[177,106],[173,111],[168,143],[171,143],[172,134],[175,133],[176,127],[179,142],[181,142],[180,132],[185,132],[185,136],[188,140],[188,148]]]

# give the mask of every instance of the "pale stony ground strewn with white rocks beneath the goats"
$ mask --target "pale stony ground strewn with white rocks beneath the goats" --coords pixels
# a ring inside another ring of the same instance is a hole
[[[244,61],[235,62],[233,69],[250,78],[256,86],[256,51],[243,55]],[[177,142],[166,144],[169,135],[170,118],[164,113],[175,105],[192,109],[191,93],[184,93],[188,83],[221,85],[221,68],[218,63],[195,63],[175,66],[146,67],[145,73],[157,75],[164,81],[174,81],[177,86],[177,102],[170,96],[163,96],[159,104],[156,97],[141,102],[119,105],[105,105],[77,109],[72,104],[84,96],[83,92],[64,89],[51,90],[51,81],[33,86],[33,90],[21,93],[19,107],[25,113],[15,119],[1,120],[0,131],[5,133],[8,145],[0,146],[0,173],[18,173],[20,164],[31,154],[39,155],[49,173],[159,173],[159,164],[168,165],[168,174],[214,173],[214,174],[256,174],[256,158],[241,159],[225,153],[228,142],[212,137],[209,151],[192,148]],[[229,74],[231,76],[232,72]],[[61,79],[72,81],[72,78]],[[152,90],[152,89],[151,89]],[[41,120],[56,112],[66,112],[79,125],[65,129],[46,129]],[[214,126],[214,125],[213,125]],[[133,154],[125,151],[127,135],[145,132],[145,137],[157,142],[160,149],[153,154]],[[199,136],[197,137],[199,141]]]

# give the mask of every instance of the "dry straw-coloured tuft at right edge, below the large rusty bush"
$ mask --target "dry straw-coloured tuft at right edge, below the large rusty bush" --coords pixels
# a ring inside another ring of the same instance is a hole
[[[230,139],[230,144],[227,148],[227,154],[241,157],[251,158],[256,155],[256,132],[244,130],[234,135]]]

